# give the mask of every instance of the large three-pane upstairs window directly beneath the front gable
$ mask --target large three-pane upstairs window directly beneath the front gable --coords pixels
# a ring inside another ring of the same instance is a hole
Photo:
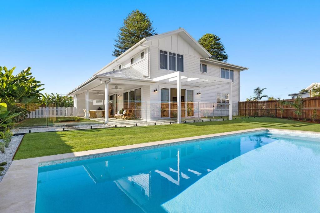
[[[160,50],[160,69],[183,72],[183,55]]]

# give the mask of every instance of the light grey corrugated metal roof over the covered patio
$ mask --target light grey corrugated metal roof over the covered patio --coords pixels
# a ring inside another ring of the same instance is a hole
[[[115,71],[111,71],[111,72],[105,72],[105,73],[102,73],[99,75],[108,76],[108,77],[116,77],[116,78],[127,78],[127,79],[152,81],[152,79],[145,77],[140,71],[138,71],[132,67],[127,67],[127,68],[123,68],[123,69],[115,70]]]

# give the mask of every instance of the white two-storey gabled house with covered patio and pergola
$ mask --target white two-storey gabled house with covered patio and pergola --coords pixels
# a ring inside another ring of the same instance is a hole
[[[248,68],[209,57],[183,28],[157,34],[136,43],[67,95],[74,96],[77,116],[89,118],[91,110],[102,108],[106,123],[121,109],[136,118],[177,118],[178,123],[200,113],[214,116],[215,111],[232,119],[237,111],[233,106],[240,101],[240,72]]]

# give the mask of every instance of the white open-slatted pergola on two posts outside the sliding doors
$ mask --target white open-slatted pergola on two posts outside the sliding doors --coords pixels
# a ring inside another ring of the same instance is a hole
[[[181,85],[184,86],[194,86],[194,87],[210,87],[220,84],[230,85],[229,94],[229,119],[232,120],[232,80],[223,79],[214,76],[205,76],[205,78],[197,78],[199,75],[195,76],[192,74],[186,74],[184,72],[172,72],[167,75],[163,75],[153,80],[158,83],[169,83],[177,84],[177,102],[178,102],[178,124],[181,123]]]

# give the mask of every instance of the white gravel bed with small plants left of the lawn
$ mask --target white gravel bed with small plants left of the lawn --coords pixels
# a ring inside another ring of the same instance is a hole
[[[1,182],[2,178],[4,177],[4,174],[9,169],[9,167],[12,163],[12,157],[13,157],[14,153],[16,152],[22,138],[23,138],[23,135],[12,136],[9,147],[4,148],[4,150],[5,150],[4,153],[0,152],[0,163],[7,162],[7,165],[3,166],[4,171],[1,172],[2,175],[0,175],[0,182]],[[2,142],[2,140],[0,140],[0,141]]]

